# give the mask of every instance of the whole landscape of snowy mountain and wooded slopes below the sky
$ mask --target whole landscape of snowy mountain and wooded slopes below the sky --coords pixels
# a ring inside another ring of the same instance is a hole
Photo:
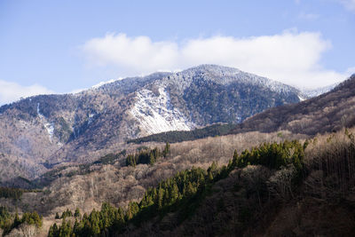
[[[32,226],[24,219],[4,229],[12,226],[8,236],[349,235],[354,82],[352,75],[304,100],[288,85],[203,65],[1,107],[1,184],[23,191],[1,197],[0,206],[43,216],[40,228],[21,230]],[[154,162],[127,162],[155,147]]]

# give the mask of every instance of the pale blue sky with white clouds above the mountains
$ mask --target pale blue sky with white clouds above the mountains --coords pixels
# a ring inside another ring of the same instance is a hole
[[[317,88],[354,42],[355,0],[0,0],[0,105],[201,64]]]

